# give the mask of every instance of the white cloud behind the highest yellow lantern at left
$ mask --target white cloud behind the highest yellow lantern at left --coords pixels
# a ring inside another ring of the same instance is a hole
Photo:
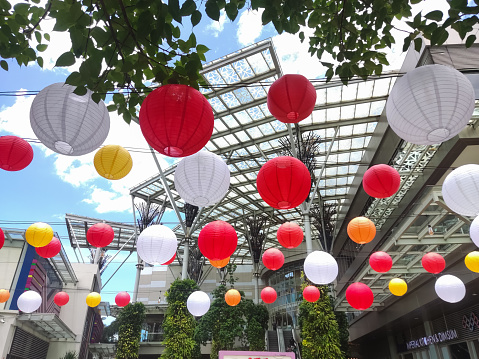
[[[33,96],[19,96],[15,104],[0,109],[0,131],[9,132],[16,136],[36,139],[30,127],[30,106]],[[123,179],[109,181],[100,177],[94,166],[94,153],[83,156],[70,157],[59,155],[41,143],[30,142],[38,146],[43,154],[54,156],[55,174],[61,180],[71,184],[72,190],[82,190],[86,193],[84,201],[95,206],[99,213],[123,212],[131,209],[129,189],[142,181],[158,174],[149,147],[141,134],[140,126],[136,123],[126,124],[116,113],[110,113],[110,133],[104,142],[118,144],[130,151],[133,159],[133,169]],[[166,157],[157,155],[163,169],[172,163]],[[34,159],[35,160],[35,159]]]

